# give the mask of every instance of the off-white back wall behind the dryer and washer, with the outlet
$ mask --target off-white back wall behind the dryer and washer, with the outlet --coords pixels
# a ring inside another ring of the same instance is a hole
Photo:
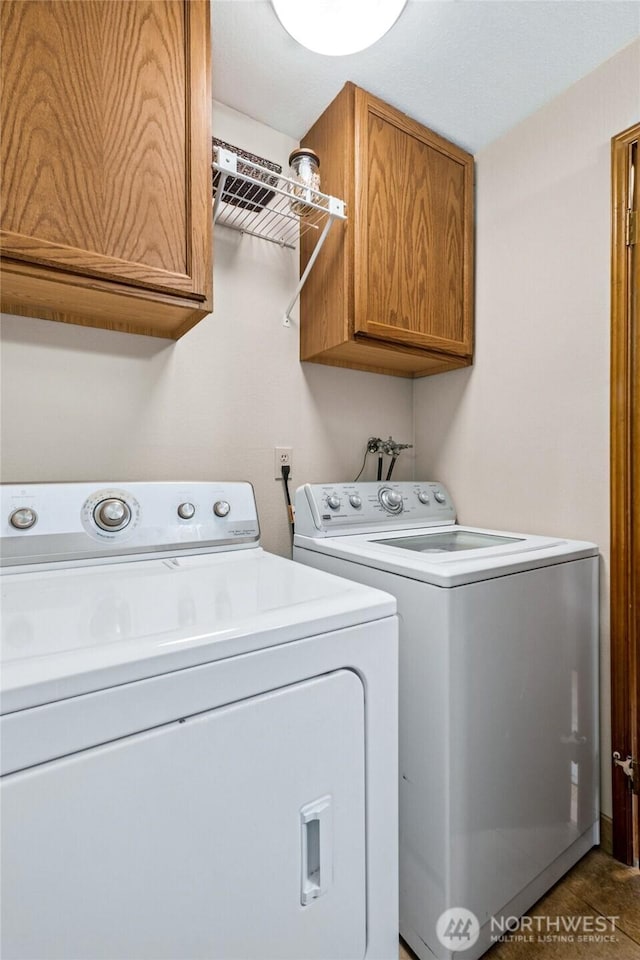
[[[214,133],[283,169],[296,146],[219,104]],[[214,313],[177,343],[2,318],[3,480],[250,480],[284,554],[274,446],[293,447],[295,487],[355,477],[371,435],[412,441],[410,380],[300,364],[297,321],[281,324],[296,253],[218,229],[214,255]]]

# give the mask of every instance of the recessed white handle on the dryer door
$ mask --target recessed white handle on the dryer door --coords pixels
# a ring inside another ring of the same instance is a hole
[[[300,903],[306,907],[333,881],[333,807],[327,795],[300,810],[302,877]]]

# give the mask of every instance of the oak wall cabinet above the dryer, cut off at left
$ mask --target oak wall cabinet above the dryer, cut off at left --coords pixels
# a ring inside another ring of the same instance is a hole
[[[177,338],[211,312],[209,0],[3,0],[2,309]]]

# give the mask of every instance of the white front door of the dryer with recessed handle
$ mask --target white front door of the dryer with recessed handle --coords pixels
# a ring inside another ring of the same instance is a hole
[[[364,692],[341,670],[2,781],[2,956],[366,949]]]

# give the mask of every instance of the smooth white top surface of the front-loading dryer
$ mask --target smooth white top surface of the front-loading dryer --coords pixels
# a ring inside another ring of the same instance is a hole
[[[393,597],[265,553],[7,573],[8,713],[370,622]]]

